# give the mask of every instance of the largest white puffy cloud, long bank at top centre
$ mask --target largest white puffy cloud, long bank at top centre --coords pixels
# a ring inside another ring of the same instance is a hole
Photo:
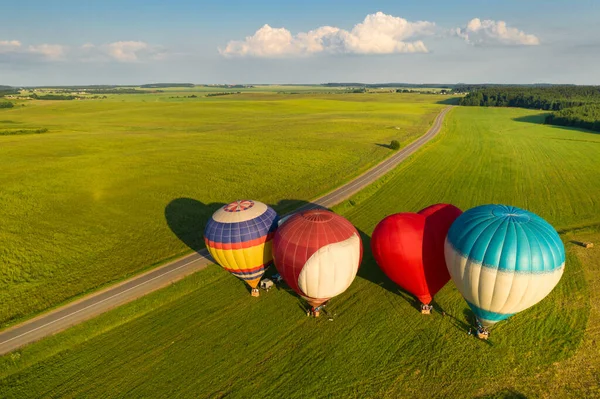
[[[333,26],[292,35],[285,28],[264,25],[245,40],[232,40],[219,53],[224,56],[285,57],[317,53],[393,54],[426,53],[421,36],[431,35],[435,24],[410,22],[382,12],[369,14],[351,31]],[[414,41],[411,41],[414,40]]]

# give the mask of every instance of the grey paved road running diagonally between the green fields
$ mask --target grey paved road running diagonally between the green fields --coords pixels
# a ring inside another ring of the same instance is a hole
[[[451,108],[451,106],[444,108],[435,118],[433,126],[418,140],[374,166],[372,169],[369,169],[356,179],[301,207],[299,210],[331,207],[338,204],[395,168],[400,162],[408,158],[439,132],[444,116]],[[210,258],[208,251],[204,249],[75,302],[71,302],[22,324],[13,326],[0,332],[0,355],[46,336],[56,334],[67,327],[81,323],[109,309],[131,302],[136,298],[204,269],[211,263],[214,262]]]

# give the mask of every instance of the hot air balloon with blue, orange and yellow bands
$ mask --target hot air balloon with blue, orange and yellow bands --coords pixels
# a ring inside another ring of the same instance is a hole
[[[273,262],[271,244],[277,213],[259,201],[242,200],[216,211],[204,229],[206,248],[225,270],[258,296],[258,283]]]

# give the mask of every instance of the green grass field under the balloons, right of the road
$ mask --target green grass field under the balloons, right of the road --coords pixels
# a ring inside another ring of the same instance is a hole
[[[361,230],[359,277],[307,318],[285,289],[250,298],[217,266],[0,359],[0,389],[26,397],[597,397],[600,136],[516,109],[458,108],[442,134],[336,210]],[[385,183],[385,184],[384,184]],[[370,255],[385,215],[435,202],[526,207],[553,223],[567,268],[540,304],[468,337],[455,286],[424,317]],[[354,205],[351,205],[354,204]],[[197,204],[198,207],[202,205]],[[447,315],[441,316],[443,309]]]

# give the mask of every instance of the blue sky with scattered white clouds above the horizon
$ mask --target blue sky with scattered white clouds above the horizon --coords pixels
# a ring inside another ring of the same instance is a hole
[[[600,84],[600,1],[0,0],[0,85]]]

